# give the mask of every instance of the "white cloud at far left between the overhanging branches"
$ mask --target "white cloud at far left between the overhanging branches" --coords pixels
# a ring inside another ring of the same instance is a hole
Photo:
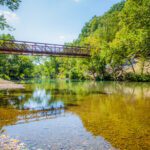
[[[4,15],[8,23],[16,23],[19,20],[19,17],[10,11],[0,11],[0,15]]]

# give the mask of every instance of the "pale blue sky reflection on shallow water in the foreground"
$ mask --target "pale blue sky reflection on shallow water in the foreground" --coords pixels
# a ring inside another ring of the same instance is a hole
[[[5,129],[6,134],[23,141],[30,150],[112,150],[109,142],[87,132],[79,117],[69,113]]]

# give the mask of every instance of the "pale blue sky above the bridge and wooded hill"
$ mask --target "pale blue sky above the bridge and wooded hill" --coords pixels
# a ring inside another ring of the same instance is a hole
[[[119,1],[22,0],[15,12],[0,6],[0,14],[15,28],[9,33],[17,40],[63,44],[76,39],[94,15],[102,15]]]

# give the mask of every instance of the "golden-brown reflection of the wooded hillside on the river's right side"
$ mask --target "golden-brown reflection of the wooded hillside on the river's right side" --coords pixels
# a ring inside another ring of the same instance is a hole
[[[117,148],[147,149],[150,146],[150,101],[132,98],[118,94],[91,95],[70,111],[80,116],[88,131],[105,137]]]

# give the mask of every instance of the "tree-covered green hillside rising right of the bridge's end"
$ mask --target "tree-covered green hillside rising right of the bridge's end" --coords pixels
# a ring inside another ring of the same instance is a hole
[[[150,59],[149,10],[148,0],[122,1],[86,23],[75,43],[92,47],[92,59],[87,63],[92,78],[126,80],[130,76],[126,68],[130,66],[137,80],[148,80],[143,73],[145,62]],[[141,75],[134,68],[137,59],[143,64]]]

